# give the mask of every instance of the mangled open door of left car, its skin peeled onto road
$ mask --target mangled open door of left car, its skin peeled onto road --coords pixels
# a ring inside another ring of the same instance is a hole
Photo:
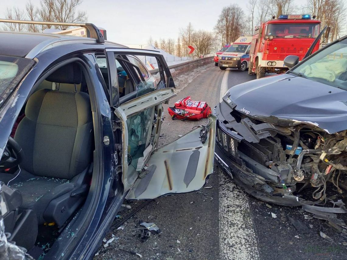
[[[138,55],[138,50],[132,51],[125,49],[122,53]],[[208,125],[197,126],[156,149],[164,115],[162,104],[176,96],[170,87],[175,85],[160,53],[141,55],[156,57],[160,80],[156,90],[143,95],[139,92],[136,98],[115,107],[122,126],[122,182],[129,190],[127,199],[153,199],[199,190],[213,172],[215,116],[210,115]]]

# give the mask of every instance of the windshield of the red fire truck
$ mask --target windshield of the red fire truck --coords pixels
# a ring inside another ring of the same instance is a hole
[[[313,23],[269,24],[266,28],[266,35],[275,38],[315,38],[318,34],[319,24]]]

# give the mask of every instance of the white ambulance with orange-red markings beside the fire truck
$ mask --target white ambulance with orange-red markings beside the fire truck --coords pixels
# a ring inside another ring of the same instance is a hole
[[[249,50],[251,49],[252,36],[241,36],[228,49],[221,54],[218,67],[245,71],[249,67]]]

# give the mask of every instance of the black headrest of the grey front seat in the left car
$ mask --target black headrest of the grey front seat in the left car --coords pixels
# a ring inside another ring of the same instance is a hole
[[[82,70],[78,64],[70,63],[54,71],[46,80],[54,83],[80,84]]]

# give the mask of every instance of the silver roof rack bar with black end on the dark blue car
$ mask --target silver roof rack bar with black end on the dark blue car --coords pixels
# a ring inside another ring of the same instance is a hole
[[[61,22],[50,22],[50,21],[28,21],[28,20],[10,20],[10,19],[0,19],[0,23],[15,23],[15,24],[37,24],[37,25],[66,25],[66,26],[80,26],[86,28],[91,38],[95,38],[96,42],[104,43],[104,37],[100,32],[100,29],[94,24],[90,23],[61,23]]]

